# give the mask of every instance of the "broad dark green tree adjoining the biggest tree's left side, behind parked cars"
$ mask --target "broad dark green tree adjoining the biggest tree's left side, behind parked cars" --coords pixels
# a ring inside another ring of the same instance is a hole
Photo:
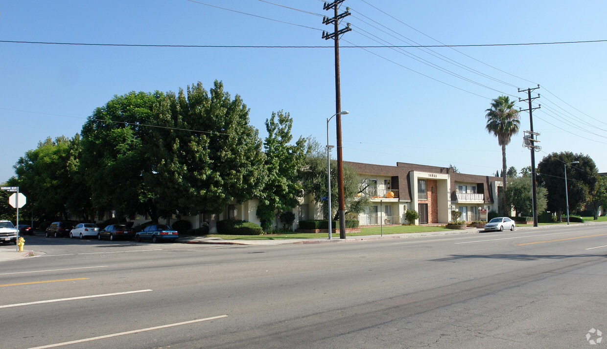
[[[98,211],[115,210],[118,216],[147,213],[154,222],[174,211],[172,203],[158,194],[163,187],[146,181],[161,161],[154,153],[160,140],[150,126],[155,125],[154,110],[164,98],[159,91],[114,96],[84,124],[78,167]]]

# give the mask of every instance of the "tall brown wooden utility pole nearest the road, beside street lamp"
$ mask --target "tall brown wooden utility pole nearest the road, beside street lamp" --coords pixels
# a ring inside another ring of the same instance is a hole
[[[333,33],[322,32],[322,38],[325,40],[334,39],[335,41],[335,124],[337,128],[337,190],[339,194],[339,238],[345,239],[345,204],[344,204],[344,166],[342,164],[342,140],[341,140],[341,86],[339,84],[339,36],[350,32],[350,23],[345,28],[339,29],[339,21],[350,16],[350,8],[339,14],[339,4],[345,0],[334,0],[325,2],[323,10],[333,10],[333,17],[324,16],[322,23],[326,25],[333,24]],[[331,200],[331,198],[329,198]],[[331,213],[329,213],[331,214]],[[331,219],[331,218],[330,218]]]

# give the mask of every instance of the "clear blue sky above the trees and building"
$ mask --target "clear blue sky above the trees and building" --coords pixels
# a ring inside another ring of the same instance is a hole
[[[4,0],[0,1],[0,40],[333,45],[321,38],[328,27],[319,15],[330,15],[322,9],[324,2],[270,2],[274,4],[259,0]],[[607,42],[441,47],[432,52],[359,48],[413,42],[605,40],[606,1],[346,0],[342,11],[346,6],[352,15],[341,27],[350,22],[353,31],[341,40],[342,109],[350,111],[342,119],[344,160],[453,164],[463,173],[495,174],[501,168],[501,150],[497,138],[484,130],[485,110],[492,98],[502,94],[526,98],[517,88],[540,84],[533,95],[541,95],[534,103],[541,104],[534,111],[534,130],[541,133],[543,147],[536,163],[552,151],[573,151],[591,156],[600,171],[607,171]],[[251,124],[262,137],[265,119],[272,111],[284,110],[294,119],[295,138],[311,135],[322,144],[326,119],[335,109],[332,48],[0,42],[0,76],[0,182],[13,176],[15,162],[39,141],[74,136],[96,107],[129,91],[177,91],[197,81],[210,88],[218,79],[232,96],[242,96],[251,109]],[[331,144],[335,144],[334,121],[330,126]],[[521,114],[521,130],[529,130],[528,113]],[[508,166],[518,170],[530,165],[522,137],[522,132],[514,136],[506,150]]]

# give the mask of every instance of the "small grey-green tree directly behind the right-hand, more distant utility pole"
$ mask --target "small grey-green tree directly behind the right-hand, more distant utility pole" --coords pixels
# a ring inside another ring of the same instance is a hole
[[[532,178],[531,174],[521,177],[508,177],[507,195],[510,198],[510,204],[514,208],[515,216],[532,216]],[[546,211],[546,188],[538,186],[536,190],[537,213]]]

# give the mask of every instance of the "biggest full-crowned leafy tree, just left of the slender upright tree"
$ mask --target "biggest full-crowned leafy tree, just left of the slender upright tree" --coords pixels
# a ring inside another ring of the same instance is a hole
[[[168,128],[155,128],[161,142],[154,153],[162,161],[154,176],[168,183],[182,211],[209,214],[212,233],[229,204],[260,197],[266,177],[262,141],[239,95],[232,99],[219,81],[209,91],[198,82],[186,92],[168,93],[157,118]]]

